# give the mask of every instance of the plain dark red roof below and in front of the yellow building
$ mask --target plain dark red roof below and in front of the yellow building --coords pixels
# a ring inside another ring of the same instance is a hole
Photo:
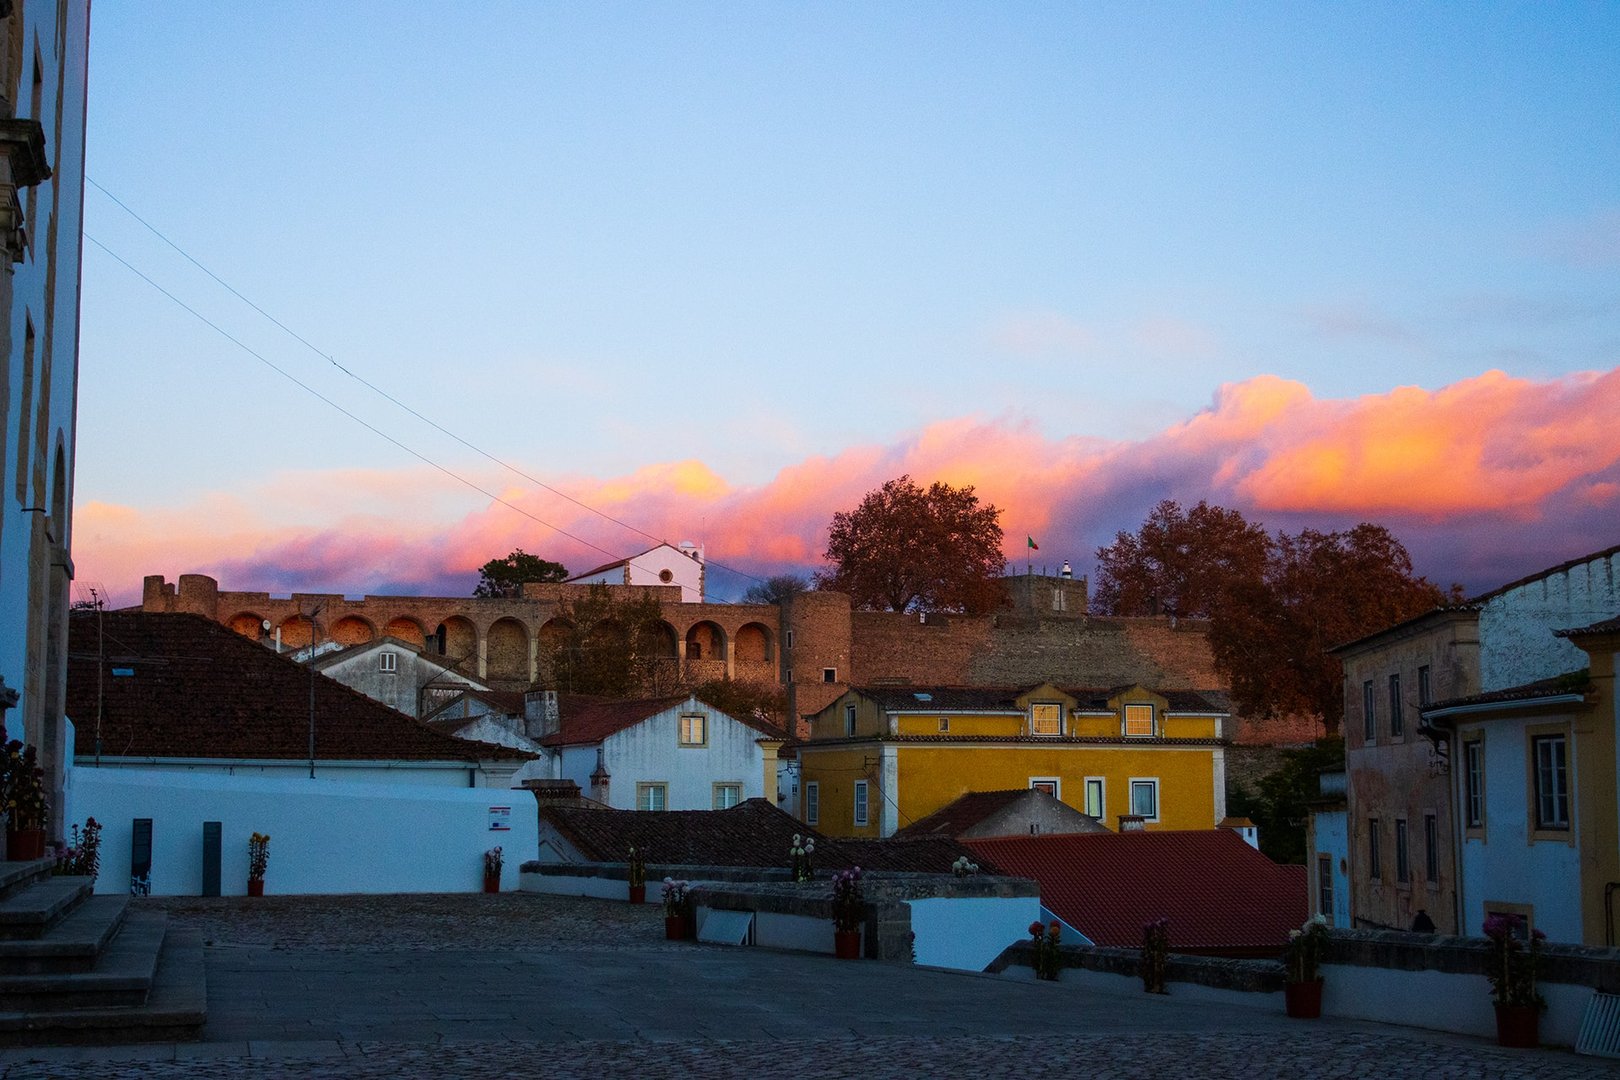
[[[1171,950],[1265,955],[1309,916],[1299,868],[1278,866],[1230,829],[962,842],[1040,882],[1040,902],[1098,946],[1140,946],[1142,926],[1163,916]]]

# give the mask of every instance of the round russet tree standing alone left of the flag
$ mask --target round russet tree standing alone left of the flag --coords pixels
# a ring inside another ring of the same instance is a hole
[[[1001,512],[978,505],[972,484],[888,481],[833,515],[826,559],[816,586],[857,607],[983,614],[1006,601]]]

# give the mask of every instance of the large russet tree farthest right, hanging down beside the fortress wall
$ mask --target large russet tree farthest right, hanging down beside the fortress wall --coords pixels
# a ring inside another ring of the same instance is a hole
[[[1382,525],[1278,533],[1265,576],[1238,581],[1213,612],[1210,649],[1249,714],[1315,714],[1336,733],[1345,672],[1333,646],[1421,615],[1447,594],[1414,576]]]

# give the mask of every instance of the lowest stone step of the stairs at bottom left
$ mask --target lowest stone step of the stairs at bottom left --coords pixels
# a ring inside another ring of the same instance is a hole
[[[0,1012],[0,1046],[178,1043],[199,1038],[206,1020],[202,934],[185,929],[165,936],[146,1002],[66,1012]]]

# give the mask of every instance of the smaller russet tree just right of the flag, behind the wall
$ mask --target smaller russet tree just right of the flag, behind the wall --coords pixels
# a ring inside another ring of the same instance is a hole
[[[1264,576],[1268,552],[1265,529],[1236,510],[1204,500],[1183,510],[1166,499],[1137,533],[1119,533],[1097,549],[1092,602],[1115,615],[1166,610],[1207,619],[1234,583]]]

